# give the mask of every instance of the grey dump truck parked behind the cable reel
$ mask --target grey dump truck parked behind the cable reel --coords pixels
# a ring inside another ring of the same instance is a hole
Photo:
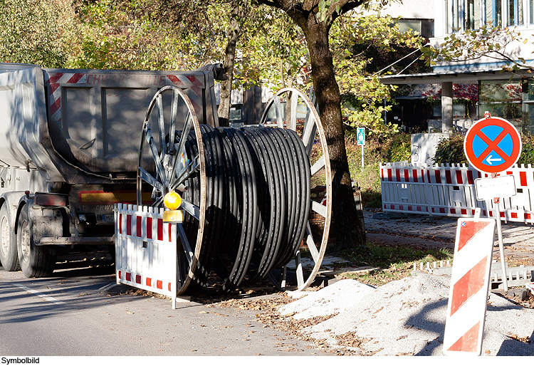
[[[4,269],[50,276],[58,256],[76,246],[113,249],[113,205],[136,203],[150,100],[159,88],[175,85],[192,101],[199,122],[216,127],[214,79],[220,74],[220,65],[162,72],[0,63]]]

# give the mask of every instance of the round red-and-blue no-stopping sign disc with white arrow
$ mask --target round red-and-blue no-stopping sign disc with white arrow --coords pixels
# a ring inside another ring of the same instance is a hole
[[[498,128],[502,130],[498,132]],[[488,130],[491,130],[491,135]],[[493,140],[491,137],[494,137]],[[510,150],[503,150],[502,146],[499,146],[501,142],[505,142]],[[486,148],[483,145],[486,145]],[[503,172],[517,163],[521,146],[518,130],[501,117],[490,117],[476,122],[469,128],[464,139],[464,152],[469,164],[478,171],[488,173]]]

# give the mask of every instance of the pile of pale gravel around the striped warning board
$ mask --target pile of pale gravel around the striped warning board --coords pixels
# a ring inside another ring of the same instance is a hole
[[[333,348],[362,355],[444,355],[449,278],[418,275],[378,288],[342,280],[280,308],[295,319],[333,318],[305,328]],[[534,355],[534,310],[489,294],[482,355]]]

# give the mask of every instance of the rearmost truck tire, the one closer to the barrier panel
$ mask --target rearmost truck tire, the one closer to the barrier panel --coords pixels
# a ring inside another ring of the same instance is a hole
[[[56,265],[56,250],[50,246],[36,246],[34,243],[27,205],[24,205],[19,216],[16,239],[19,263],[24,276],[51,276]]]

